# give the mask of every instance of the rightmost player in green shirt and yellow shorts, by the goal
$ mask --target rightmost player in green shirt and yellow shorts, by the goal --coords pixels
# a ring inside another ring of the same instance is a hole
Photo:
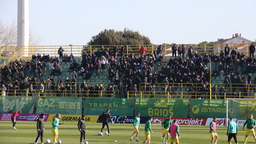
[[[247,128],[246,129],[246,134],[245,134],[245,144],[246,144],[246,141],[247,141],[247,137],[250,133],[252,134],[252,136],[254,137],[254,140],[256,141],[255,132],[254,132],[254,128],[256,126],[256,121],[255,121],[255,119],[253,119],[253,115],[250,115],[250,118],[245,121],[245,124],[243,126],[243,130],[245,129],[245,125],[247,125],[246,126],[246,128]]]

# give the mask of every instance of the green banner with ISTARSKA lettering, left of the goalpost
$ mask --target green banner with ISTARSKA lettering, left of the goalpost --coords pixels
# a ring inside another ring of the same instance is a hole
[[[192,99],[190,111],[191,118],[226,118],[226,101]]]

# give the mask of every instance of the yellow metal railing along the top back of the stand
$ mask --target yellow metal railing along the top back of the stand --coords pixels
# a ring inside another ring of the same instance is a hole
[[[187,54],[187,50],[190,48],[190,46],[193,47],[194,52],[197,51],[198,54],[204,54],[204,53],[220,53],[221,50],[224,51],[224,47],[226,44],[219,43],[219,44],[184,44],[185,47],[185,54]],[[230,52],[233,48],[235,50],[239,50],[240,53],[245,54],[248,56],[249,53],[249,46],[250,43],[229,43]],[[157,48],[159,45],[144,45],[146,47],[147,53],[153,52],[155,48]],[[178,44],[176,47],[178,48]],[[58,55],[58,49],[59,47],[62,47],[65,51],[64,54],[73,54],[73,56],[81,56],[82,53],[91,55],[92,52],[97,52],[97,50],[107,50],[109,49],[111,53],[113,54],[113,47],[114,45],[55,45],[55,46],[30,46],[30,47],[0,47],[0,58],[2,57],[10,57],[13,55],[15,50],[21,49],[23,52],[25,50],[30,50],[31,54],[49,54],[50,56],[57,56]],[[139,49],[142,47],[142,45],[123,45],[124,54],[139,54]],[[168,56],[168,54],[172,53],[171,50],[172,45],[162,45],[162,56],[165,57]],[[119,45],[119,54],[120,54],[121,45]],[[178,53],[178,51],[177,51]]]

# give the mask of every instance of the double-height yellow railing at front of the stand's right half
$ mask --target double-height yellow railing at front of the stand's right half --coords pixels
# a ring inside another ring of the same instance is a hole
[[[171,89],[168,89],[169,86]],[[220,92],[222,87],[226,92]],[[256,84],[250,83],[140,83],[139,90],[139,92],[136,92],[136,95],[139,95],[141,98],[143,98],[142,96],[181,99],[184,97],[201,97],[201,99],[226,99],[226,97],[256,98]],[[168,90],[171,90],[171,92]],[[132,96],[133,92],[130,91],[128,95]]]

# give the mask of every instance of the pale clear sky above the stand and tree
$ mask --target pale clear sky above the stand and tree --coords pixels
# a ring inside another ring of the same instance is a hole
[[[0,0],[0,20],[17,21],[17,0]],[[129,28],[151,43],[256,39],[256,0],[29,0],[40,45],[85,45],[104,29]]]

